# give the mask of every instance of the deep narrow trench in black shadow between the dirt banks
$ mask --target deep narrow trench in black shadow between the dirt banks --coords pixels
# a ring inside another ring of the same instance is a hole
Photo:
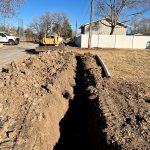
[[[99,98],[87,88],[95,87],[94,76],[85,68],[84,57],[76,56],[76,86],[74,99],[60,121],[60,139],[54,150],[107,150],[117,149],[107,144],[105,117],[99,109]]]

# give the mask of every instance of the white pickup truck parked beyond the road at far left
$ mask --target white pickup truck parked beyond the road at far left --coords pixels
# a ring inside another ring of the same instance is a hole
[[[9,43],[10,45],[18,45],[20,42],[19,37],[9,35],[6,32],[0,32],[0,43]]]

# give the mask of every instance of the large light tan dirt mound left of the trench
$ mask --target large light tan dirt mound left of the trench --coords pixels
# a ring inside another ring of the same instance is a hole
[[[0,74],[0,149],[52,149],[73,97],[74,54],[13,62]]]

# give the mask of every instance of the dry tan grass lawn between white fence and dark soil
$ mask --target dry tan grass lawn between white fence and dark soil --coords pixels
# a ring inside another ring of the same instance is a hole
[[[150,87],[150,50],[80,49],[77,51],[101,56],[114,80],[142,83]]]

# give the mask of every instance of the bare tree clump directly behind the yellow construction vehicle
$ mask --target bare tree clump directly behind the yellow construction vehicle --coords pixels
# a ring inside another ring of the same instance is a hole
[[[70,36],[68,32],[72,32],[69,25],[69,19],[63,13],[46,12],[39,18],[34,19],[30,28],[38,36],[50,35],[57,33],[60,36]]]

